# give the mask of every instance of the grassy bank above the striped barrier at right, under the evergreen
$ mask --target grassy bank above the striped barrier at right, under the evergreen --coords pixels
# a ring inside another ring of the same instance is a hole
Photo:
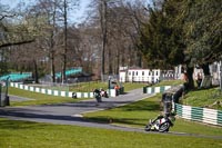
[[[189,91],[183,99],[184,105],[222,110],[222,105],[213,105],[216,101],[222,103],[222,92],[219,88]]]

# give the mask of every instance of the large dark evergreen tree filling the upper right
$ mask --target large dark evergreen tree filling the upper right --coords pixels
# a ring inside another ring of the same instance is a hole
[[[193,67],[199,65],[210,75],[209,63],[221,58],[221,10],[220,0],[165,0],[161,7],[150,7],[139,42],[149,65],[185,65],[193,88]]]

